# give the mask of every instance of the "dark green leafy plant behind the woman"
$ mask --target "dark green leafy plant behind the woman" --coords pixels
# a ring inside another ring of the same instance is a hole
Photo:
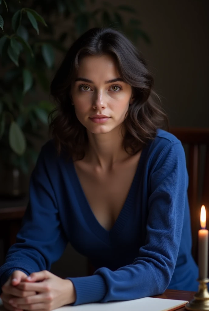
[[[37,88],[49,94],[56,53],[100,26],[122,30],[134,43],[140,38],[149,43],[136,14],[109,1],[0,0],[0,156],[5,165],[27,173],[31,160],[36,162],[34,138],[43,139],[53,108],[49,100],[40,100]]]

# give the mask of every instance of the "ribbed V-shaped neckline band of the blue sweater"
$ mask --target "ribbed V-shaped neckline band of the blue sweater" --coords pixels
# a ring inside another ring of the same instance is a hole
[[[128,195],[126,197],[125,203],[123,204],[123,207],[113,225],[113,227],[110,230],[105,229],[100,222],[97,220],[96,216],[94,215],[91,206],[86,198],[86,195],[83,191],[83,188],[81,186],[80,179],[77,175],[77,171],[75,169],[73,160],[71,158],[70,164],[71,164],[71,171],[72,171],[72,183],[74,186],[74,191],[77,197],[77,200],[79,202],[79,206],[82,211],[82,215],[84,216],[84,219],[89,226],[89,228],[101,239],[103,239],[105,242],[109,243],[109,236],[113,234],[119,234],[121,230],[123,229],[127,218],[129,216],[129,213],[131,211],[132,204],[134,202],[134,199],[137,194],[137,187],[141,179],[140,170],[142,168],[142,163],[144,162],[145,157],[145,149],[144,147],[141,152],[141,156],[138,160],[137,169],[134,174],[134,177],[132,179],[132,183],[128,192]]]

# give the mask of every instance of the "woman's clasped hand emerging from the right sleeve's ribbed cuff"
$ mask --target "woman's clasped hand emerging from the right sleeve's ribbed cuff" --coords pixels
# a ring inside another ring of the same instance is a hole
[[[12,302],[9,303],[16,309],[49,311],[76,300],[73,283],[47,270],[31,273],[16,288],[26,292],[36,292],[33,296],[12,298]]]

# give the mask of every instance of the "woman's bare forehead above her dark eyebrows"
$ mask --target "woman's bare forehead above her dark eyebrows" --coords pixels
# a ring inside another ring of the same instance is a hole
[[[110,55],[102,55],[102,56],[84,56],[79,61],[79,68],[77,70],[77,75],[83,76],[87,75],[96,75],[104,77],[104,80],[107,76],[119,76],[117,63],[115,59]]]

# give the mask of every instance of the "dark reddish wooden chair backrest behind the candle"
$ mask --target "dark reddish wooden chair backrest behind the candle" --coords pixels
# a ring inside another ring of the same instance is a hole
[[[183,144],[188,145],[187,169],[189,175],[188,200],[192,227],[192,255],[197,262],[198,230],[200,229],[200,210],[205,205],[209,211],[209,128],[170,128]],[[205,159],[202,163],[201,146],[205,146]],[[200,180],[200,169],[203,167],[203,181]],[[202,183],[201,195],[199,184]],[[209,213],[207,213],[207,229],[209,229]],[[198,264],[198,262],[197,262]]]

